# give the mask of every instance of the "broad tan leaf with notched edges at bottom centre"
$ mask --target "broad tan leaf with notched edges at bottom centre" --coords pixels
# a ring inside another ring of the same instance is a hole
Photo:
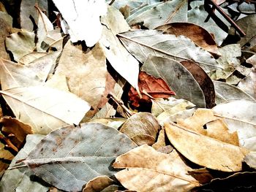
[[[115,176],[129,190],[189,191],[200,185],[188,174],[192,169],[184,164],[176,150],[165,154],[142,145],[118,156],[113,167],[126,168]]]

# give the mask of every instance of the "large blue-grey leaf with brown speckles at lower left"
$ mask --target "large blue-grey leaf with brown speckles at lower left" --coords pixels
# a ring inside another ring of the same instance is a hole
[[[57,188],[81,191],[94,177],[114,174],[111,162],[134,147],[135,143],[115,128],[84,123],[51,132],[23,162]]]

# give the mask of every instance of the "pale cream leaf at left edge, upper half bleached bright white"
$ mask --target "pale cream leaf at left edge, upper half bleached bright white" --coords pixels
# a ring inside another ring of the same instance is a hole
[[[72,93],[45,86],[0,91],[15,116],[34,133],[48,134],[61,126],[78,124],[90,106]]]

